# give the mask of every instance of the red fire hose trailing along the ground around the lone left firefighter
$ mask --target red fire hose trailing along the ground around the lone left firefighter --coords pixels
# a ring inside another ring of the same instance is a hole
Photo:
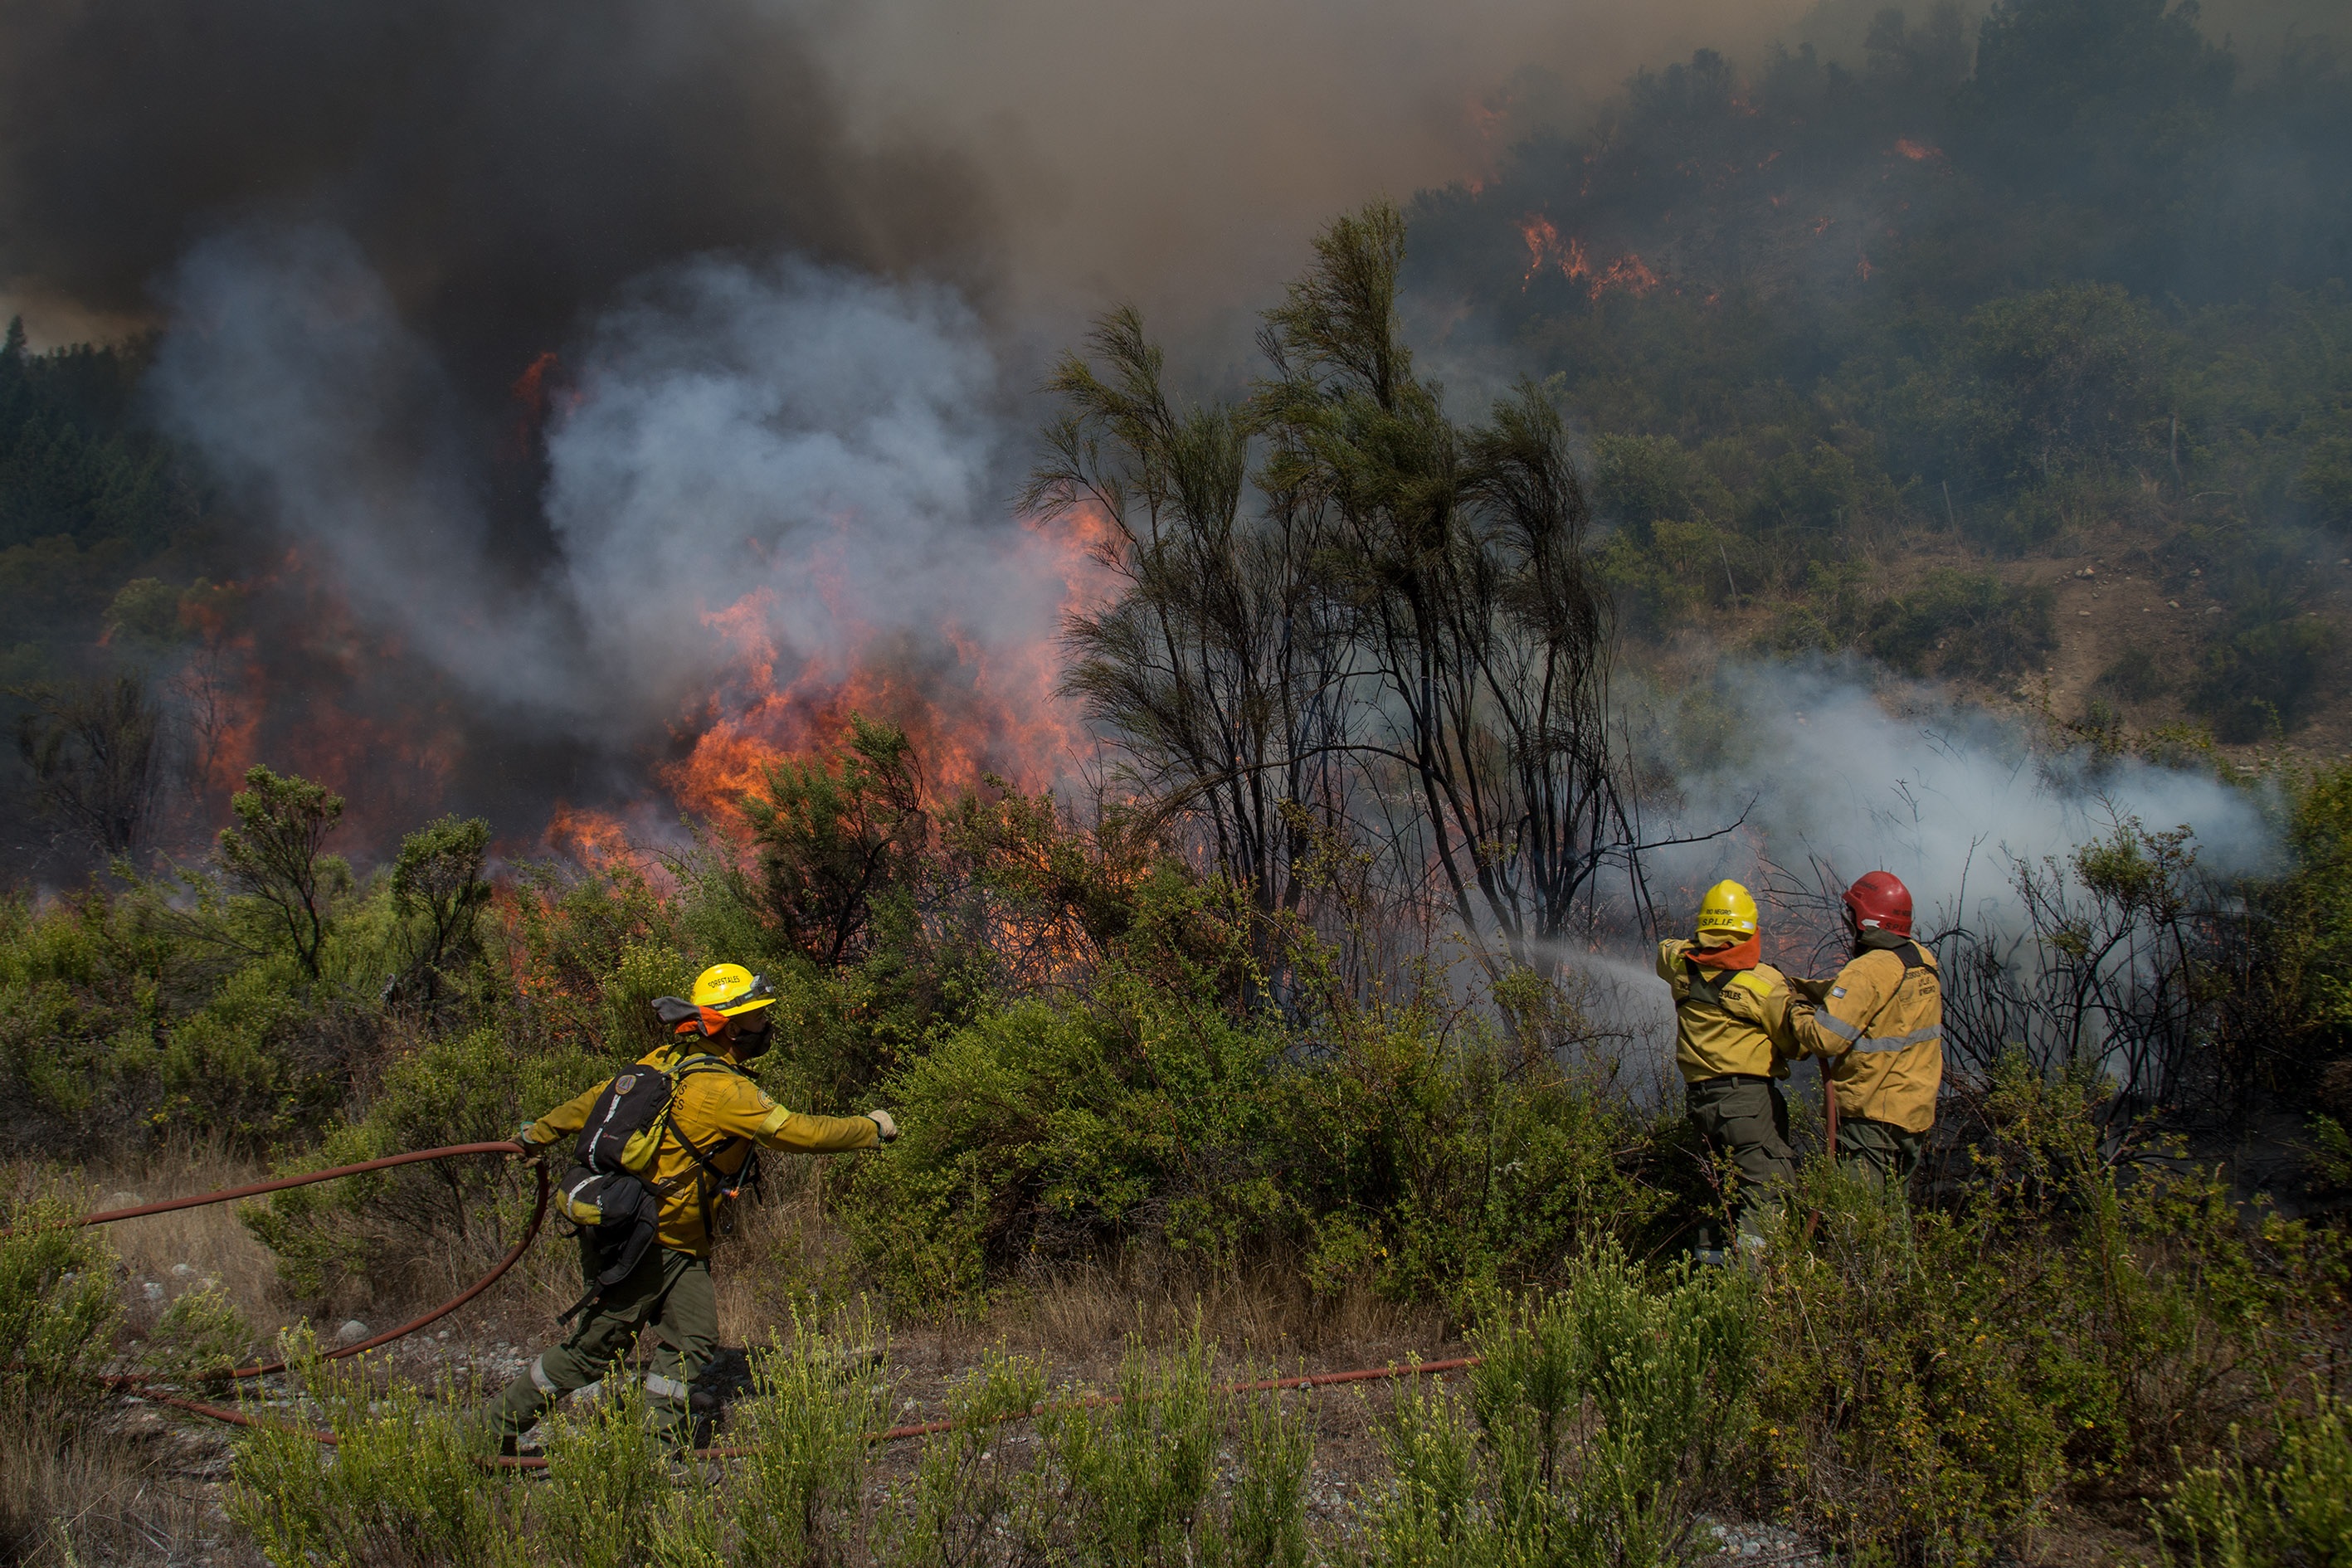
[[[360,1161],[355,1166],[332,1166],[327,1171],[310,1171],[308,1175],[285,1175],[285,1178],[278,1178],[278,1180],[270,1180],[270,1182],[247,1182],[245,1187],[228,1187],[223,1192],[207,1192],[207,1194],[193,1197],[193,1199],[169,1199],[165,1204],[141,1204],[139,1208],[108,1208],[106,1213],[82,1215],[80,1220],[56,1220],[54,1225],[31,1225],[31,1227],[24,1227],[21,1232],[19,1229],[0,1229],[0,1237],[38,1234],[38,1232],[45,1232],[45,1229],[75,1229],[80,1225],[113,1225],[118,1220],[139,1220],[139,1218],[155,1215],[155,1213],[172,1213],[176,1208],[202,1208],[207,1204],[230,1204],[235,1199],[261,1197],[263,1192],[285,1192],[287,1187],[308,1187],[310,1182],[332,1182],[332,1180],[339,1180],[343,1175],[365,1175],[367,1171],[390,1171],[393,1166],[414,1166],[414,1164],[423,1164],[423,1161],[430,1161],[430,1159],[456,1159],[459,1154],[524,1154],[524,1152],[527,1150],[520,1143],[508,1143],[508,1140],[501,1140],[501,1143],[454,1143],[454,1145],[447,1145],[447,1147],[440,1147],[440,1150],[416,1150],[414,1154],[388,1154],[386,1159],[367,1159],[367,1161]],[[322,1359],[325,1361],[341,1361],[343,1356],[358,1356],[362,1352],[376,1349],[379,1345],[390,1345],[393,1340],[402,1340],[402,1338],[416,1333],[419,1328],[426,1328],[428,1324],[435,1324],[435,1321],[449,1316],[452,1312],[456,1312],[459,1307],[463,1307],[466,1302],[470,1302],[475,1295],[480,1295],[482,1291],[487,1291],[489,1286],[494,1286],[510,1267],[515,1267],[515,1262],[522,1258],[522,1253],[529,1251],[532,1241],[539,1239],[539,1225],[546,1220],[546,1215],[548,1215],[548,1168],[546,1168],[546,1164],[539,1164],[539,1199],[532,1204],[532,1222],[522,1229],[522,1239],[517,1239],[515,1246],[510,1246],[506,1251],[506,1255],[499,1258],[499,1262],[489,1269],[489,1274],[482,1274],[482,1279],[473,1281],[461,1295],[442,1302],[433,1312],[426,1312],[419,1319],[409,1319],[400,1328],[393,1328],[388,1333],[379,1333],[372,1340],[362,1340],[360,1345],[346,1345],[341,1349],[332,1349]],[[1468,1368],[1477,1366],[1479,1361],[1484,1361],[1484,1356],[1456,1356],[1454,1361],[1409,1361],[1404,1366],[1374,1366],[1374,1368],[1362,1368],[1362,1371],[1352,1371],[1352,1373],[1315,1373],[1315,1375],[1305,1375],[1305,1378],[1263,1378],[1258,1382],[1232,1382],[1232,1385],[1225,1385],[1225,1387],[1221,1387],[1216,1392],[1218,1394],[1258,1394],[1258,1392],[1270,1392],[1270,1389],[1319,1389],[1319,1387],[1331,1387],[1331,1385],[1341,1385],[1341,1382],[1376,1382],[1376,1380],[1383,1380],[1383,1378],[1418,1378],[1418,1375],[1432,1375],[1435,1378],[1435,1375],[1442,1375],[1442,1373],[1468,1371]],[[266,1361],[266,1363],[256,1363],[256,1366],[240,1366],[238,1371],[233,1371],[228,1375],[230,1378],[266,1378],[268,1373],[282,1373],[285,1366],[287,1366],[285,1361]],[[242,1410],[230,1410],[226,1406],[205,1403],[200,1399],[183,1399],[179,1394],[160,1394],[153,1387],[148,1387],[151,1378],[115,1375],[115,1378],[103,1378],[103,1382],[106,1382],[106,1387],[115,1387],[115,1389],[136,1389],[141,1399],[148,1399],[153,1403],[172,1406],[176,1410],[193,1410],[195,1415],[209,1415],[212,1420],[223,1420],[223,1422],[230,1422],[235,1427],[263,1427],[263,1429],[273,1429],[273,1432],[301,1432],[303,1436],[318,1439],[320,1443],[334,1443],[336,1441],[334,1432],[303,1429],[303,1427],[285,1427],[280,1422],[254,1420],[252,1415],[247,1415]],[[1087,1410],[1091,1410],[1091,1408],[1105,1408],[1105,1406],[1122,1403],[1122,1399],[1124,1396],[1120,1396],[1120,1394],[1096,1394],[1096,1396],[1070,1401],[1070,1408],[1087,1408]],[[1030,1410],[1009,1410],[1004,1415],[997,1415],[995,1420],[1000,1420],[1000,1422],[1025,1420],[1025,1418],[1037,1415],[1037,1413],[1042,1413],[1047,1408],[1054,1408],[1054,1406],[1035,1406]],[[889,1432],[877,1432],[875,1441],[877,1443],[896,1443],[896,1441],[903,1441],[903,1439],[910,1439],[910,1436],[934,1436],[938,1432],[953,1432],[955,1425],[957,1422],[953,1422],[953,1420],[931,1420],[931,1422],[917,1422],[913,1427],[891,1427]],[[736,1458],[748,1455],[750,1450],[748,1448],[696,1448],[694,1453],[696,1453],[696,1458],[706,1458],[706,1460],[736,1460]],[[496,1458],[496,1460],[487,1460],[487,1462],[496,1465],[501,1469],[546,1469],[546,1465],[548,1465],[543,1458],[536,1458],[536,1455]]]

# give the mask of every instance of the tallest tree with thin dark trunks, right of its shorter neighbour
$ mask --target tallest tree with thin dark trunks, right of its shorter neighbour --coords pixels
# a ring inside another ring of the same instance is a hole
[[[1550,966],[1599,879],[1642,900],[1609,741],[1616,628],[1590,515],[1541,388],[1458,430],[1397,339],[1404,221],[1374,205],[1315,244],[1268,313],[1265,489],[1324,520],[1362,703],[1352,757],[1414,802],[1392,849],[1489,961]]]

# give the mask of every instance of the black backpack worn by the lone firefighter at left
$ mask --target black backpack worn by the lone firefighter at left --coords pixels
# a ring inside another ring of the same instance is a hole
[[[677,997],[661,997],[654,1001],[654,1011],[670,1025],[701,1013]],[[703,1020],[703,1034],[713,1032],[717,1030]],[[555,1213],[595,1232],[597,1258],[604,1260],[604,1267],[597,1269],[588,1291],[555,1319],[557,1324],[569,1324],[604,1291],[635,1274],[647,1248],[654,1246],[663,1199],[654,1187],[654,1166],[666,1140],[675,1138],[694,1159],[696,1182],[701,1175],[710,1175],[722,1190],[729,1185],[717,1168],[717,1154],[724,1145],[706,1152],[670,1121],[670,1100],[680,1079],[696,1072],[734,1072],[734,1067],[715,1056],[687,1056],[670,1067],[637,1065],[604,1084],[604,1093],[588,1107],[588,1124],[581,1126],[572,1150],[574,1164],[564,1171],[555,1194]],[[703,1204],[703,1225],[708,1227],[715,1199],[706,1197]]]

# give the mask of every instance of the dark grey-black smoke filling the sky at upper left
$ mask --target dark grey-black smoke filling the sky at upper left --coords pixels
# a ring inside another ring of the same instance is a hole
[[[985,254],[950,150],[842,127],[804,21],[659,0],[0,0],[0,282],[139,315],[242,223],[350,235],[513,378],[666,261]],[[503,383],[503,381],[501,381]]]

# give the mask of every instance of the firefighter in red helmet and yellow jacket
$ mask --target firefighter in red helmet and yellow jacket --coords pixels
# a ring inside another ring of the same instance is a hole
[[[1809,985],[1790,1020],[1799,1048],[1830,1070],[1839,1164],[1903,1190],[1936,1126],[1943,978],[1912,940],[1910,889],[1893,872],[1858,879],[1844,903],[1853,957],[1828,985]]]

